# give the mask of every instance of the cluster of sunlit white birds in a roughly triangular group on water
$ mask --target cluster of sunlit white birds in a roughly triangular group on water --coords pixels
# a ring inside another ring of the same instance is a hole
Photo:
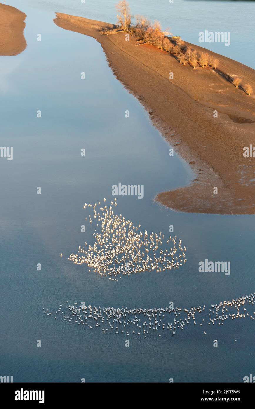
[[[79,246],[78,253],[70,254],[68,260],[78,265],[86,263],[93,272],[113,281],[118,281],[116,277],[124,274],[176,269],[186,262],[186,247],[181,247],[181,240],[177,243],[176,236],[165,240],[161,231],[159,234],[152,232],[150,236],[146,230],[141,232],[140,224],[136,227],[121,214],[114,214],[116,198],[109,208],[100,205],[101,202],[83,206],[91,210],[85,220],[96,224],[94,244],[85,242],[85,248]]]

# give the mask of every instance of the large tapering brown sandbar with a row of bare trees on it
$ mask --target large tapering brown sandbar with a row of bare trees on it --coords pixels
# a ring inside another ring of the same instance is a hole
[[[243,156],[244,146],[255,146],[254,95],[248,97],[220,72],[193,70],[153,46],[136,46],[135,37],[125,41],[124,33],[99,33],[112,24],[62,13],[56,13],[54,22],[101,43],[116,77],[141,101],[174,151],[195,171],[196,178],[188,187],[159,193],[159,202],[186,212],[255,213],[255,158]],[[255,91],[253,69],[215,55],[219,70],[239,76],[241,85],[250,83]],[[174,73],[172,81],[169,72]],[[218,118],[213,117],[214,110]],[[218,194],[213,193],[214,187]]]

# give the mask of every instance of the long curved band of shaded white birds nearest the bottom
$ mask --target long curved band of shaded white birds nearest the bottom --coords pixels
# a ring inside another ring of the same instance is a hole
[[[254,305],[255,292],[246,296],[232,299],[231,301],[220,302],[219,304],[211,304],[208,311],[206,306],[187,308],[112,308],[112,307],[92,307],[85,306],[81,303],[71,305],[66,301],[66,310],[62,309],[60,304],[56,310],[55,319],[61,317],[64,321],[75,322],[78,325],[85,325],[88,328],[101,327],[102,333],[111,333],[115,331],[116,334],[141,335],[145,338],[149,335],[149,330],[152,333],[157,333],[159,337],[170,331],[173,336],[177,331],[181,331],[189,324],[200,326],[206,325],[205,318],[208,312],[208,325],[224,325],[224,321],[229,319],[255,319]],[[44,313],[51,315],[49,310],[43,308]],[[248,311],[250,310],[250,311]],[[205,317],[205,318],[203,318]],[[173,318],[173,319],[172,319]],[[171,322],[170,319],[172,319]],[[197,322],[196,322],[197,321]],[[204,335],[206,335],[204,331]],[[235,339],[235,342],[237,340]]]

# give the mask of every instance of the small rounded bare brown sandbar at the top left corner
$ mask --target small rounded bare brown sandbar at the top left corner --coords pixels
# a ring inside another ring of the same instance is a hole
[[[20,54],[27,46],[23,31],[27,16],[15,7],[0,3],[0,56]]]

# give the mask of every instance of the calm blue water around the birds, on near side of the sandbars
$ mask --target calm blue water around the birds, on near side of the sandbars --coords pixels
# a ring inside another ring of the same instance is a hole
[[[125,348],[121,335],[43,314],[43,307],[54,310],[66,300],[130,308],[173,301],[190,308],[253,292],[254,216],[179,213],[155,203],[159,191],[188,184],[194,177],[188,166],[169,156],[170,146],[115,79],[93,38],[54,25],[54,13],[43,2],[42,9],[19,3],[9,2],[27,14],[27,48],[1,57],[1,144],[13,146],[13,160],[0,160],[1,375],[14,382],[242,382],[254,371],[254,321],[190,327],[162,339],[134,336]],[[143,184],[144,198],[118,198],[116,213],[148,232],[169,235],[174,225],[187,247],[181,269],[112,283],[67,260],[92,240],[88,224],[81,233],[84,202],[105,197],[109,204],[118,182]],[[206,258],[230,261],[230,275],[199,273],[198,263]]]

